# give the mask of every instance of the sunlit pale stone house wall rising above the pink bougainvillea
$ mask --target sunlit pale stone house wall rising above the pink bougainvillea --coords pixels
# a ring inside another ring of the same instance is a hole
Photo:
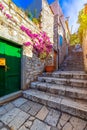
[[[54,36],[54,15],[52,10],[50,9],[46,0],[42,0],[42,11],[41,11],[41,29],[47,32],[48,36],[53,43]]]

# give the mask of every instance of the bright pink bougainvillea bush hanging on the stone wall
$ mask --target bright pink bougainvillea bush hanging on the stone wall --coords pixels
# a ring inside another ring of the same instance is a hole
[[[30,29],[25,26],[20,27],[30,38],[31,42],[25,42],[25,46],[33,46],[33,52],[40,58],[46,59],[52,52],[53,44],[46,32],[32,33]]]

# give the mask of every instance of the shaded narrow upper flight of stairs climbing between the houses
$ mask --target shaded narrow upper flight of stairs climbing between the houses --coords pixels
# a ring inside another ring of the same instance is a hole
[[[69,53],[69,55],[65,58],[59,69],[61,71],[83,71],[83,52],[72,50],[71,53]]]

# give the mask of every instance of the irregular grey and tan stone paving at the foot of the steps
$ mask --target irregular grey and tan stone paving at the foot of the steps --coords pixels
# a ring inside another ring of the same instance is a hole
[[[87,121],[18,98],[0,107],[0,130],[87,130]]]

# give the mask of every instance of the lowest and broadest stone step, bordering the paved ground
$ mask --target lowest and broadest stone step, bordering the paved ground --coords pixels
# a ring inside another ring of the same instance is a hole
[[[55,96],[33,89],[24,91],[23,96],[29,100],[87,120],[87,102]]]

